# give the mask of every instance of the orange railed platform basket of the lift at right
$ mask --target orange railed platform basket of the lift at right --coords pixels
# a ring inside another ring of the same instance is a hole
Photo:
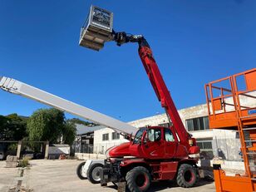
[[[205,91],[210,128],[238,130],[238,118],[256,125],[256,69],[209,82]]]

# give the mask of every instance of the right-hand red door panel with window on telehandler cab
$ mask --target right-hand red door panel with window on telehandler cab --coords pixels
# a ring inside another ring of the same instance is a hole
[[[170,128],[164,129],[165,140],[165,158],[173,158],[175,156],[178,142],[175,140],[175,135]]]

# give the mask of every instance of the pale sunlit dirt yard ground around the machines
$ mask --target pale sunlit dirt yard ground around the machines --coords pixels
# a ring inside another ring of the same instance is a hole
[[[102,188],[101,185],[92,185],[88,180],[80,180],[76,176],[76,166],[80,160],[31,160],[30,170],[26,170],[22,180],[24,187],[39,192],[84,192],[84,191],[117,191],[112,184]],[[0,161],[0,192],[17,185],[18,168],[5,168],[5,161]],[[150,191],[190,191],[214,192],[214,182],[199,180],[197,185],[190,189],[180,188],[174,182],[153,182]]]

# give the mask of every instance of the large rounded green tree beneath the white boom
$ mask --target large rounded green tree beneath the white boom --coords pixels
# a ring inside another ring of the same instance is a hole
[[[64,112],[57,109],[39,109],[27,121],[29,140],[49,140],[58,143],[63,138],[64,143],[71,145],[75,140],[76,126],[66,121]]]

